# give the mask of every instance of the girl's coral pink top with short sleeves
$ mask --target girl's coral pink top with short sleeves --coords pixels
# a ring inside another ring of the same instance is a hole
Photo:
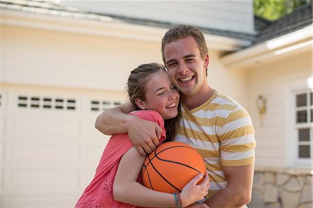
[[[163,118],[157,111],[134,111],[131,114],[145,120],[157,122],[163,128],[160,139],[160,143],[163,143],[166,138],[166,131],[164,129]],[[128,134],[115,134],[111,136],[102,154],[95,177],[85,191],[83,191],[83,195],[81,195],[75,206],[76,208],[136,207],[115,201],[113,198],[113,182],[118,170],[118,164],[125,152],[131,147],[133,145],[129,140]],[[137,181],[142,182],[141,175],[138,175]]]

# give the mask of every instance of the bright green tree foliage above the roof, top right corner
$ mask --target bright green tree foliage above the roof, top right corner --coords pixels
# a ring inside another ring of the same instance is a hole
[[[313,0],[253,0],[255,15],[276,20],[295,8],[312,3]]]

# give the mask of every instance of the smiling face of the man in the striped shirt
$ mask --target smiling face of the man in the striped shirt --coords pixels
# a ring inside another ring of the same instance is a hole
[[[192,96],[207,81],[205,70],[209,56],[202,60],[197,43],[192,37],[169,42],[164,47],[166,67],[172,83],[184,96]]]

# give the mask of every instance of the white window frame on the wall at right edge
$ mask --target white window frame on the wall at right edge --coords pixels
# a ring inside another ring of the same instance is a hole
[[[287,166],[292,168],[312,168],[312,159],[313,159],[313,122],[311,122],[311,109],[313,107],[310,105],[310,99],[307,96],[307,106],[305,107],[296,107],[296,95],[300,94],[310,94],[313,92],[312,85],[308,83],[311,79],[305,79],[303,81],[298,81],[298,83],[289,86],[287,92]],[[296,123],[296,111],[299,109],[307,110],[307,122],[305,123]],[[298,129],[309,128],[310,129],[310,141],[309,142],[300,142],[302,144],[310,144],[310,159],[299,158],[298,157],[298,147],[300,145],[298,139]]]

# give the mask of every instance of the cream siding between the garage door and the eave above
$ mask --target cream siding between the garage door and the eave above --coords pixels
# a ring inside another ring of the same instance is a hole
[[[124,90],[129,72],[161,62],[159,43],[3,26],[6,83]]]

